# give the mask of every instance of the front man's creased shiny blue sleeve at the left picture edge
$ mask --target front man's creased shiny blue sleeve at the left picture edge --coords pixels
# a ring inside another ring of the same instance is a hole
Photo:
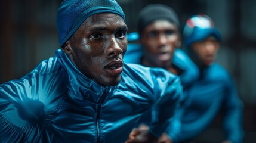
[[[51,74],[46,70],[49,66],[41,63],[26,76],[0,85],[0,142],[32,141],[50,121],[48,118],[53,117],[54,101],[59,97],[54,93],[64,91],[65,86],[60,80],[64,75]],[[63,86],[58,89],[58,85]]]

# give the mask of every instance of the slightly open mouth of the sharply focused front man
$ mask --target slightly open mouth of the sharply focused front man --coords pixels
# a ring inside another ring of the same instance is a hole
[[[118,76],[123,71],[123,62],[111,61],[104,67],[111,76]]]

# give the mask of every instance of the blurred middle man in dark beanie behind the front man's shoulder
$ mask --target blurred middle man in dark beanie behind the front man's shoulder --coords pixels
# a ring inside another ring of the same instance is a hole
[[[161,67],[170,73],[180,76],[184,97],[182,106],[186,106],[186,91],[198,78],[198,68],[192,60],[181,50],[180,22],[175,11],[166,5],[150,4],[138,14],[138,33],[130,33],[128,41],[138,40],[139,43],[129,43],[124,61],[126,63],[141,64],[147,67]],[[153,113],[154,114],[154,113]],[[180,116],[171,120],[166,133],[158,142],[171,142],[175,138],[174,132],[180,129]],[[144,114],[140,123],[149,125],[151,114]],[[130,138],[135,138],[143,128],[134,129]]]

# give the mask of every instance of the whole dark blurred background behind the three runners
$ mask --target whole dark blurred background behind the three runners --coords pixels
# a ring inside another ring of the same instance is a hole
[[[55,18],[60,0],[0,0],[0,83],[29,73],[58,49]],[[216,61],[233,76],[245,105],[244,142],[256,141],[256,1],[254,0],[118,0],[127,18],[128,32],[136,31],[138,11],[147,4],[174,8],[181,25],[191,15],[204,13],[220,29],[223,42]],[[64,24],[64,23],[63,23]],[[220,142],[217,117],[199,142]]]

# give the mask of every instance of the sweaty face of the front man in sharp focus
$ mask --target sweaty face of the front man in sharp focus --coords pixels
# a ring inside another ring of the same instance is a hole
[[[63,51],[85,76],[103,86],[120,82],[127,51],[127,25],[112,13],[94,14],[81,24]]]

